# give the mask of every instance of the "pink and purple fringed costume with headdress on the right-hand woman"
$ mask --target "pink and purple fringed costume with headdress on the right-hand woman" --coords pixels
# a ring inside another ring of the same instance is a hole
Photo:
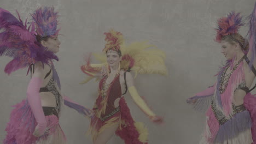
[[[255,8],[256,3],[251,15],[251,21],[255,20]],[[240,14],[232,12],[227,17],[222,17],[218,20],[219,27],[216,29],[216,41],[220,43],[225,35],[236,34],[238,28],[243,24]],[[250,39],[255,38],[254,34],[255,31],[250,28]],[[255,51],[253,45],[251,41],[249,43],[249,51]],[[206,128],[200,141],[201,144],[251,144],[256,141],[256,98],[249,93],[251,90],[246,87],[244,69],[245,64],[251,65],[251,70],[256,75],[255,68],[251,63],[255,53],[252,53],[251,62],[246,56],[248,51],[244,53],[245,55],[237,63],[234,63],[233,60],[228,61],[223,68],[220,68],[217,82],[212,87],[197,93],[195,97],[187,100],[188,103],[194,103],[194,109],[207,110]],[[229,74],[226,73],[228,69],[231,70]],[[242,89],[246,92],[242,105],[234,104],[234,93],[237,89]]]

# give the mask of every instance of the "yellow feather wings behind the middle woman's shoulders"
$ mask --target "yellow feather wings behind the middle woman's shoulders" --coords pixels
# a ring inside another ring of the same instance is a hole
[[[120,50],[123,57],[120,63],[121,69],[134,71],[135,77],[137,74],[168,74],[165,53],[156,46],[148,44],[147,41],[128,46],[121,45]],[[101,63],[107,63],[106,53],[93,53],[93,55]]]

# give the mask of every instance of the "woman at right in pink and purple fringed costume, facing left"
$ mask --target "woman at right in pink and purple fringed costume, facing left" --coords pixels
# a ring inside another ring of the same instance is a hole
[[[238,33],[244,25],[240,14],[232,12],[218,20],[216,41],[222,46],[227,62],[212,87],[187,100],[197,110],[208,109],[206,130],[200,143],[251,144],[256,141],[256,100],[249,93],[256,75],[255,8],[251,15],[249,44]]]

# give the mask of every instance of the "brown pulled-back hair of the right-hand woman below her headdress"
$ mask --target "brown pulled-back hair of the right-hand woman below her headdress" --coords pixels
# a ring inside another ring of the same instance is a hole
[[[235,43],[238,43],[243,51],[248,51],[249,49],[249,43],[248,40],[243,38],[243,36],[239,33],[226,35],[222,38],[223,41],[226,41],[232,45]]]

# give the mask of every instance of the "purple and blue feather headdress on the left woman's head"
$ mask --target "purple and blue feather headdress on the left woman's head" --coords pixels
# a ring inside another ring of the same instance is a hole
[[[37,27],[37,34],[41,37],[58,35],[60,29],[57,29],[57,17],[59,15],[54,12],[54,7],[38,8],[31,16]]]

